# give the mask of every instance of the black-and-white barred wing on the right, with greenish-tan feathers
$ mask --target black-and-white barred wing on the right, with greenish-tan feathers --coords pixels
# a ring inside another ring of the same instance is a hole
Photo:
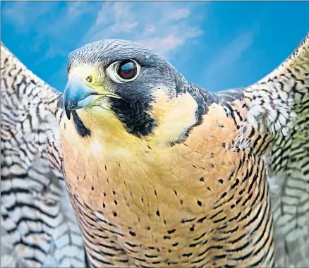
[[[241,121],[237,145],[265,156],[276,267],[308,266],[309,33],[265,78],[219,96]]]

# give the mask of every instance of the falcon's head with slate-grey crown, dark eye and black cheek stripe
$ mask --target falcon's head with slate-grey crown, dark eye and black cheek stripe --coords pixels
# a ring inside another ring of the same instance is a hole
[[[205,111],[201,91],[154,51],[107,39],[69,54],[63,105],[67,118],[72,114],[75,127],[85,126],[89,135],[99,129],[177,142]]]

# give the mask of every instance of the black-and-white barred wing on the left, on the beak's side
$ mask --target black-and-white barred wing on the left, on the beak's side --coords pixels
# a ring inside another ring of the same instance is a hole
[[[62,173],[47,155],[52,148],[47,141],[60,142],[54,116],[60,101],[60,92],[1,43],[3,267],[85,267],[83,240]]]

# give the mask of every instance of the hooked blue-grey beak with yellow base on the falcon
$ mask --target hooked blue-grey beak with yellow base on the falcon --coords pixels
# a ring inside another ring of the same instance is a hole
[[[102,91],[102,92],[101,92]],[[63,92],[63,106],[66,110],[66,117],[71,118],[71,111],[90,106],[99,97],[103,95],[109,97],[118,97],[107,90],[95,90],[94,88],[85,85],[77,75],[73,75],[66,83],[66,88]],[[119,98],[119,97],[118,97]]]

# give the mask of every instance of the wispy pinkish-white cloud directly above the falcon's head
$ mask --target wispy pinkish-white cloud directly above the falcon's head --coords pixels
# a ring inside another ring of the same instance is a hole
[[[196,5],[196,4],[195,4]],[[106,2],[82,44],[99,39],[129,39],[168,57],[188,40],[202,35],[201,22],[190,18],[194,4],[177,2]]]

